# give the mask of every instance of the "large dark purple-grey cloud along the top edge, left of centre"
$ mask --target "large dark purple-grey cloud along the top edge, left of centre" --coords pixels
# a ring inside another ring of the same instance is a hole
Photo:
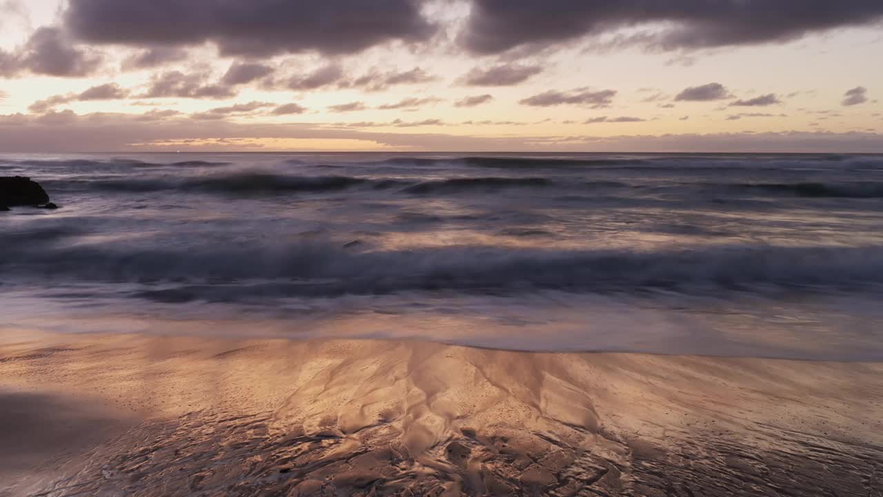
[[[434,27],[421,6],[419,0],[70,0],[64,25],[95,44],[215,42],[224,55],[348,54],[426,40]]]

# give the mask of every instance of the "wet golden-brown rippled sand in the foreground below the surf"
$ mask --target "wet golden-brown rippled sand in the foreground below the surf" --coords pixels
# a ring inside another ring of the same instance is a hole
[[[883,495],[883,364],[4,330],[0,495]]]

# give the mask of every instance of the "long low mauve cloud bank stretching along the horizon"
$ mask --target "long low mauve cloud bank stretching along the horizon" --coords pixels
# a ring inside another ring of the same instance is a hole
[[[430,126],[430,125],[426,125]],[[458,151],[609,151],[636,152],[883,152],[883,134],[797,132],[592,135],[464,136],[440,133],[373,133],[340,126],[306,123],[197,121],[145,118],[143,114],[71,111],[46,116],[0,115],[0,150],[15,152],[101,152],[105,150],[163,150],[181,143],[202,149],[242,149],[242,144],[273,139],[356,140],[363,146]],[[228,147],[225,143],[233,144]],[[165,145],[165,146],[163,146]],[[358,145],[357,145],[358,147]],[[298,149],[283,144],[279,149]]]

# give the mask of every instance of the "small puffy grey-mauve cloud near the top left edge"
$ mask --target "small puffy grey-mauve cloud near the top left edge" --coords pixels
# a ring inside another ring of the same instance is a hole
[[[102,58],[75,47],[57,27],[40,27],[13,52],[0,50],[0,77],[19,73],[79,78],[94,73]]]

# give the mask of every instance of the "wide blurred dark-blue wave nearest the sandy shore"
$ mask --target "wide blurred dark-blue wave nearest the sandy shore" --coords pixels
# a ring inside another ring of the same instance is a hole
[[[0,270],[7,279],[28,281],[64,276],[197,287],[261,283],[280,294],[299,296],[540,289],[709,294],[758,287],[877,287],[883,285],[883,248],[725,246],[629,252],[449,247],[359,252],[327,243],[149,249],[45,246],[4,251]]]

